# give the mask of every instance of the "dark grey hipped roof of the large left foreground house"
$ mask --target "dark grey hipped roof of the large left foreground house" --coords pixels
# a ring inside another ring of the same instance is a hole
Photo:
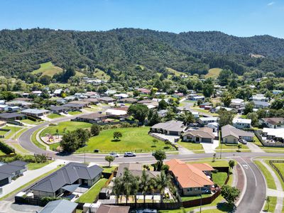
[[[98,165],[87,167],[83,163],[68,163],[51,175],[48,175],[48,177],[37,182],[31,187],[31,190],[56,192],[61,187],[72,185],[79,179],[92,180],[99,173],[102,173],[102,170]]]

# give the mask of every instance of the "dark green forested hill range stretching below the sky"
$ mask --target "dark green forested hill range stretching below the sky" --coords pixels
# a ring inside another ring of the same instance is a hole
[[[249,54],[265,58],[251,58]],[[165,67],[206,74],[210,67],[226,67],[241,75],[257,69],[284,75],[284,39],[269,35],[240,38],[217,31],[167,33],[133,28],[111,31],[0,31],[0,75],[18,75],[52,61],[85,74],[104,72],[145,77]],[[142,65],[145,72],[137,72]]]

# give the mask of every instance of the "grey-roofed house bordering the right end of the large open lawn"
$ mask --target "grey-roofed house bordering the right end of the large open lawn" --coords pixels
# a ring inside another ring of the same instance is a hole
[[[181,136],[184,130],[185,126],[182,121],[167,121],[165,123],[155,124],[151,127],[152,132],[175,136]]]

